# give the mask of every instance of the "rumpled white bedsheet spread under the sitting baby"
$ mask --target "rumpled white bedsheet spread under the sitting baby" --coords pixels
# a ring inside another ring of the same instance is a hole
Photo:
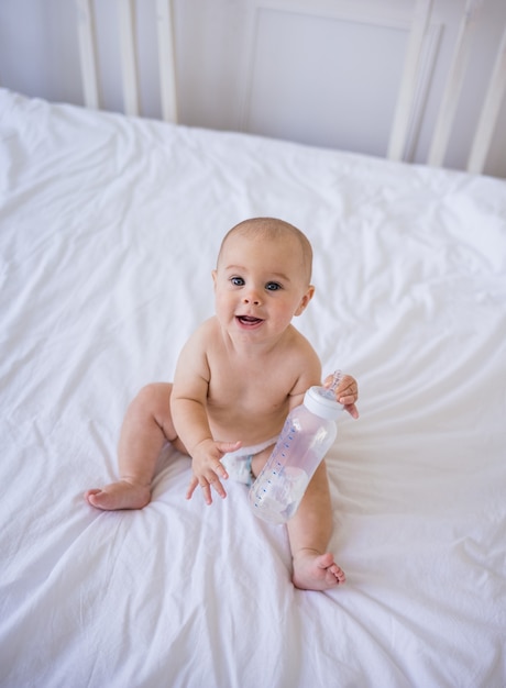
[[[506,182],[0,91],[0,685],[506,685]],[[246,488],[100,512],[129,400],[212,312],[224,232],[294,222],[297,319],[360,381],[328,456],[348,575],[294,589]]]

